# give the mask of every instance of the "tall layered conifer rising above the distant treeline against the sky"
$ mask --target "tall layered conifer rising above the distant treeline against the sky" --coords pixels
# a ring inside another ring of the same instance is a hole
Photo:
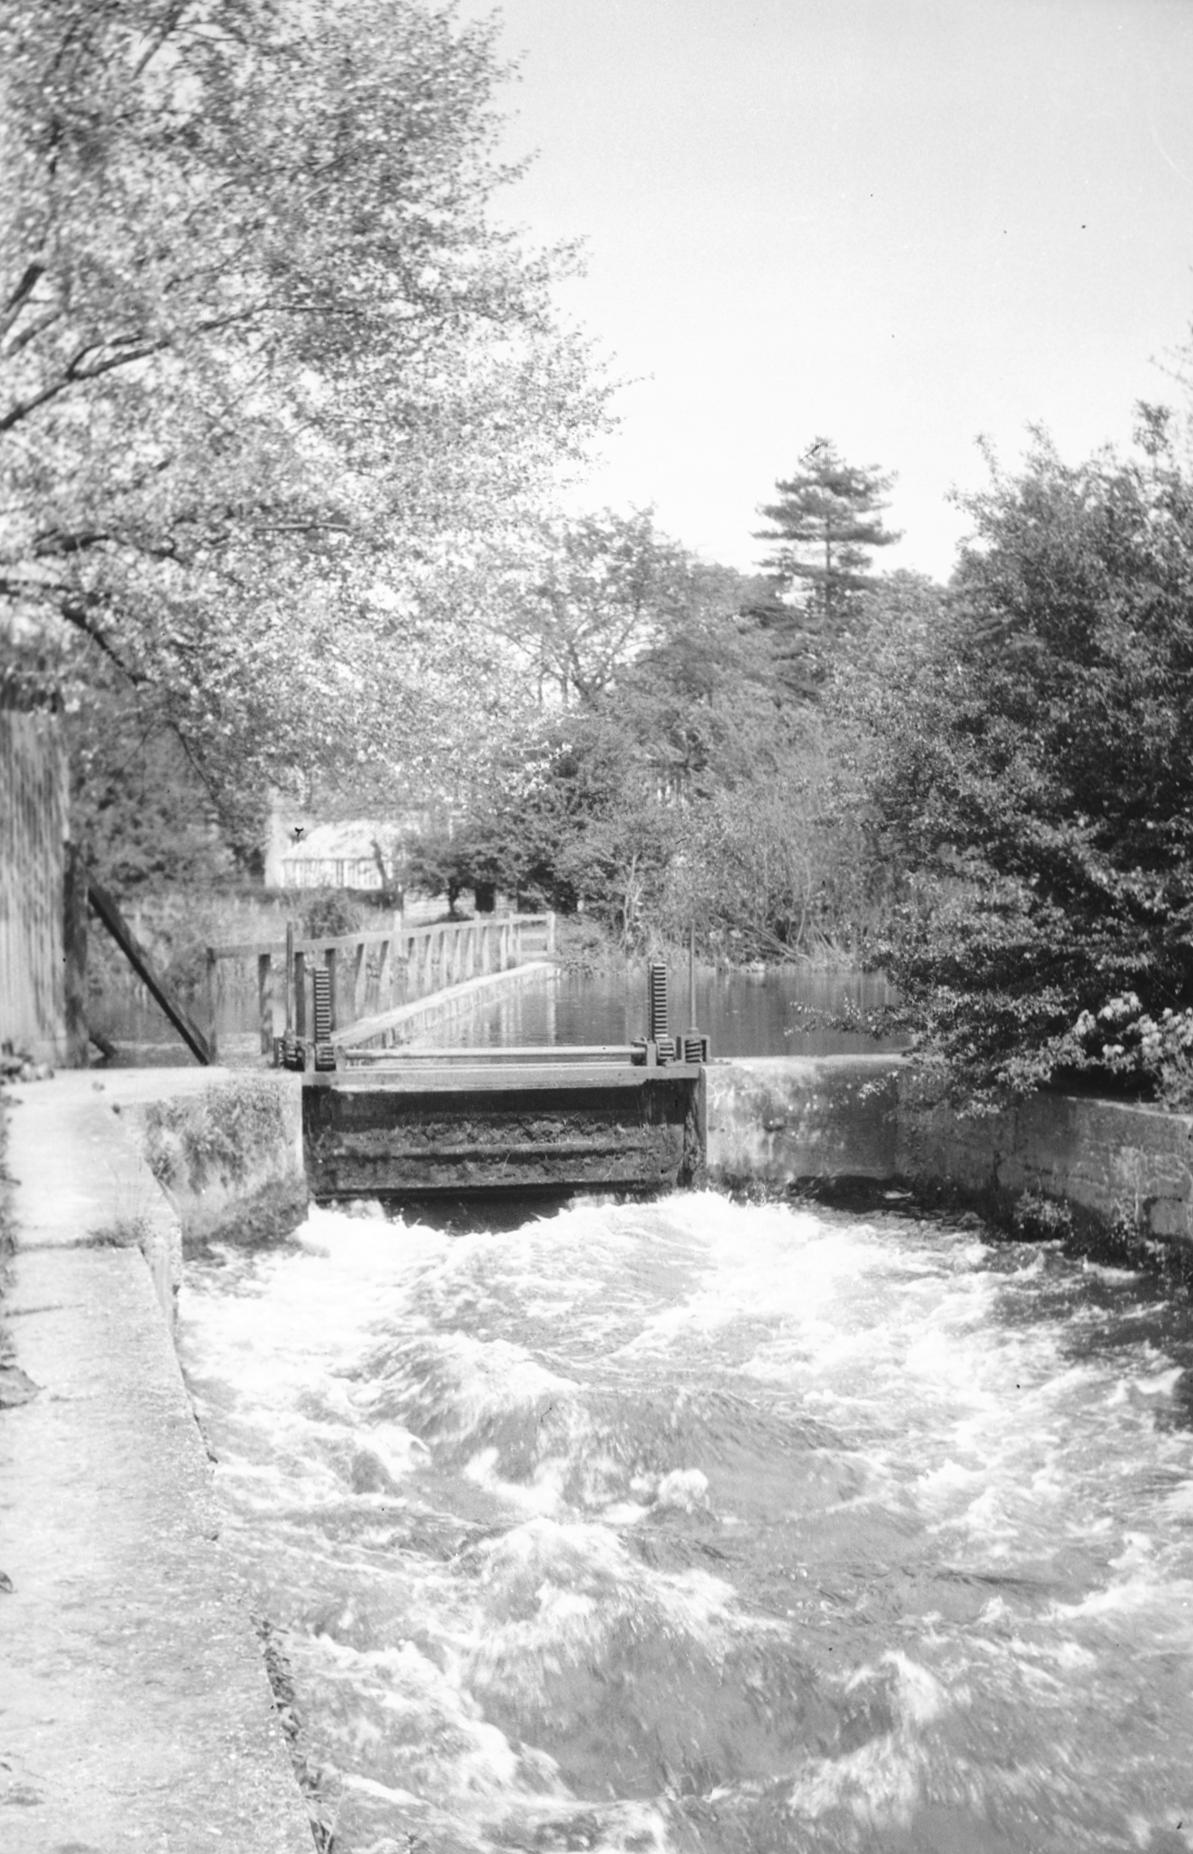
[[[892,482],[876,467],[846,464],[831,439],[815,438],[796,473],[776,482],[777,501],[759,508],[770,527],[755,540],[776,549],[763,564],[770,597],[755,616],[776,632],[787,680],[802,695],[820,686],[835,640],[857,614],[874,549],[900,538],[881,519]]]

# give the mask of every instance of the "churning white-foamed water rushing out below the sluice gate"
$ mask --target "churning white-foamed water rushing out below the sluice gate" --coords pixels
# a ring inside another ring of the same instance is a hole
[[[1156,1279],[712,1194],[321,1211],[193,1266],[184,1361],[343,1854],[1193,1848]]]

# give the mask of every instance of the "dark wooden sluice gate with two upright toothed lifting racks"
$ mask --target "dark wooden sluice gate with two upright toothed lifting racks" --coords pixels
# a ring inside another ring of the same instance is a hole
[[[707,1036],[668,1035],[666,968],[648,977],[648,1035],[625,1046],[520,1049],[340,1048],[315,983],[302,1068],[310,1194],[490,1198],[703,1183]]]

